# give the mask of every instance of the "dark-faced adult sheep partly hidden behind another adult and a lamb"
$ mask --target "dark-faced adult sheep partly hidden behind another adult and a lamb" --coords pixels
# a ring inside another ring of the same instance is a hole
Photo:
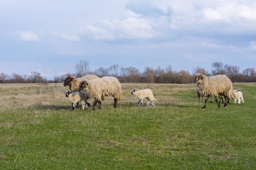
[[[81,82],[81,80],[86,80],[86,79],[92,80],[92,79],[97,79],[97,78],[99,78],[99,77],[96,75],[93,75],[93,74],[88,74],[87,76],[84,76],[84,77],[81,77],[78,79],[76,79],[76,77],[74,77],[74,76],[69,75],[69,76],[65,77],[65,79],[63,80],[64,81],[63,85],[64,85],[64,87],[66,87],[68,85],[70,91],[77,92],[77,91],[79,91],[79,82]],[[87,98],[87,99],[89,99],[89,98]],[[77,102],[76,108],[78,108],[78,103],[79,102]],[[90,107],[90,103],[88,103],[86,101],[86,104]]]

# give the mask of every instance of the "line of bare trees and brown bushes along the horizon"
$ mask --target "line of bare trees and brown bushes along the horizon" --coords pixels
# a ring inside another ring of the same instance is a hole
[[[0,83],[38,83],[38,82],[63,82],[67,75],[75,77],[83,77],[87,74],[95,74],[98,77],[113,76],[117,77],[120,82],[142,82],[142,83],[177,83],[186,84],[193,83],[196,73],[201,73],[207,76],[218,74],[226,74],[232,82],[256,82],[256,68],[246,68],[240,71],[239,66],[223,64],[222,62],[213,62],[212,70],[208,71],[201,67],[193,69],[192,73],[187,70],[174,71],[172,66],[166,68],[158,66],[146,67],[144,71],[140,71],[134,67],[119,67],[119,65],[111,65],[109,68],[99,67],[95,71],[89,70],[89,62],[80,60],[75,66],[76,72],[67,73],[60,76],[55,76],[54,79],[47,80],[41,76],[41,73],[32,71],[29,75],[20,75],[13,73],[7,75],[0,73]]]

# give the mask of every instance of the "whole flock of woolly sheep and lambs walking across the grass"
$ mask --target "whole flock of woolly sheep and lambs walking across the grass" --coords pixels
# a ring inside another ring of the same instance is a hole
[[[207,99],[209,97],[214,97],[215,101],[218,104],[218,108],[221,108],[220,102],[222,99],[222,104],[224,103],[224,108],[227,108],[227,103],[229,99],[238,99],[244,103],[242,93],[240,91],[233,90],[232,82],[226,75],[218,75],[212,77],[206,77],[203,74],[195,75],[195,83],[197,84],[197,96],[198,102],[200,101],[200,96],[203,98],[204,107],[206,108]],[[66,91],[66,97],[72,102],[72,111],[79,106],[79,101],[82,104],[82,110],[84,108],[90,107],[90,103],[87,102],[87,99],[94,98],[93,101],[93,111],[95,106],[98,104],[99,109],[101,108],[102,101],[105,100],[105,96],[114,97],[114,108],[117,107],[117,101],[121,100],[122,97],[122,87],[119,80],[116,77],[102,77],[99,78],[96,75],[89,74],[87,76],[76,79],[73,76],[65,77],[64,84],[65,87],[68,86],[69,90]],[[151,104],[154,106],[154,101],[156,99],[153,96],[153,93],[150,89],[138,90],[136,88],[132,89],[131,94],[134,94],[139,99],[137,106],[140,104],[143,105],[143,99],[147,99],[148,102],[146,106]],[[218,102],[217,96],[220,98]],[[225,102],[223,101],[223,97]],[[211,99],[212,102],[212,99]]]

